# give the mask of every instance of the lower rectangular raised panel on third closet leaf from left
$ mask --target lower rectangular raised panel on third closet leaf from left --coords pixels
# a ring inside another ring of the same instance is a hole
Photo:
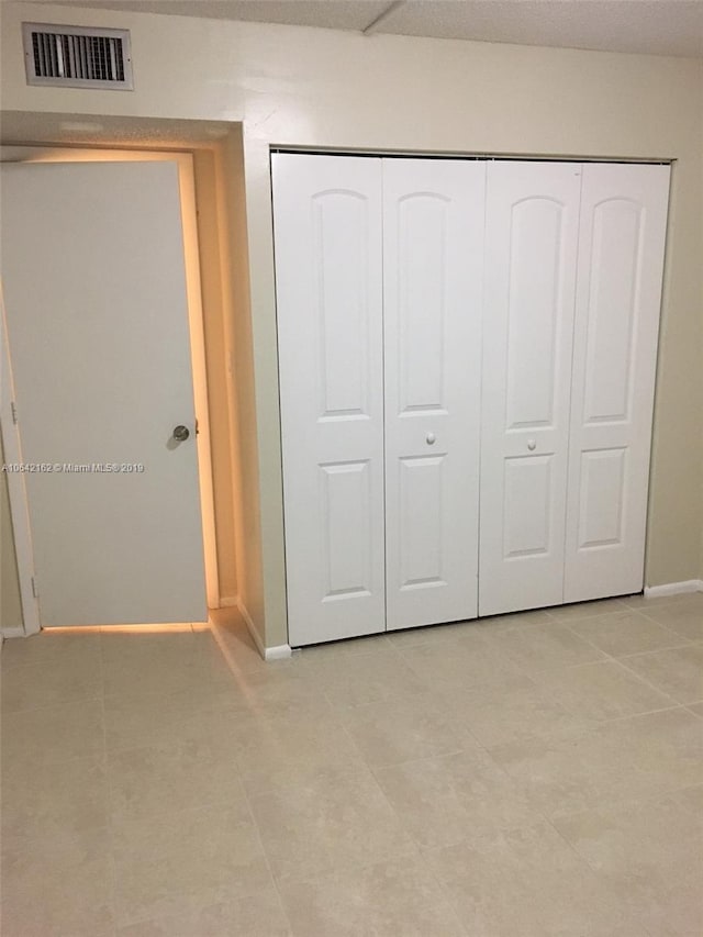
[[[549,553],[553,458],[505,459],[503,553],[506,559]]]

